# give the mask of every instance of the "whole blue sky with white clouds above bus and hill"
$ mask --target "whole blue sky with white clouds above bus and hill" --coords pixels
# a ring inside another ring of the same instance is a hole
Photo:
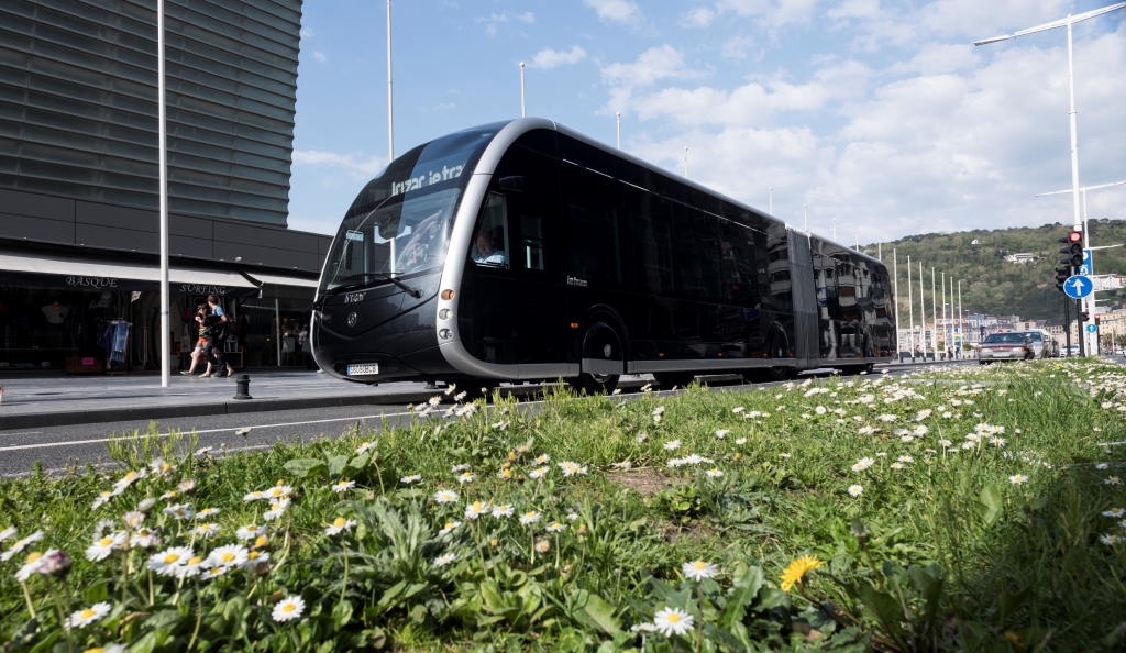
[[[1107,0],[397,0],[395,152],[529,116],[851,244],[1071,221],[1066,32]],[[292,229],[334,233],[387,162],[386,6],[306,2]],[[1075,28],[1080,175],[1126,179],[1126,9]],[[1124,218],[1124,190],[1089,196]],[[858,231],[857,235],[855,232]]]

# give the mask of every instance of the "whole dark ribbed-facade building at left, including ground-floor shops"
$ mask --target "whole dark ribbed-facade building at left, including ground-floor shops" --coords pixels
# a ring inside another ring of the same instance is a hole
[[[238,322],[230,360],[309,361],[331,238],[286,224],[302,2],[164,8],[162,336],[157,0],[0,0],[0,372],[153,370],[162,342],[187,366],[208,294]]]

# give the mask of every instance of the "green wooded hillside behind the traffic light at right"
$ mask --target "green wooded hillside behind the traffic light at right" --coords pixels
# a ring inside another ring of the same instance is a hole
[[[1111,245],[1126,243],[1126,221],[1101,220],[1090,222],[1091,244]],[[923,265],[927,288],[927,312],[930,313],[930,269],[935,268],[941,296],[941,274],[953,277],[955,285],[962,279],[964,311],[1017,314],[1025,319],[1063,319],[1063,294],[1055,288],[1055,267],[1060,265],[1057,239],[1071,231],[1060,223],[1038,227],[1017,227],[998,231],[964,231],[958,233],[930,233],[912,235],[883,243],[883,260],[892,268],[892,250],[899,259],[900,308],[906,308],[906,261],[911,257],[911,281],[914,289],[915,311],[919,302],[919,262]],[[977,244],[973,244],[977,241]],[[876,256],[876,244],[863,248]],[[1036,260],[1026,263],[1007,261],[1006,256],[1031,252]],[[1096,274],[1126,274],[1126,248],[1094,252]],[[1112,299],[1116,305],[1126,303],[1126,290],[1099,293],[1099,299]],[[939,303],[941,298],[939,298]]]

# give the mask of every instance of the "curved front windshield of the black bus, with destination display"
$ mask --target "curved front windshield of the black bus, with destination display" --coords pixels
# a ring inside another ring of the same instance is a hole
[[[462,193],[502,126],[444,136],[387,166],[348,209],[332,241],[321,292],[440,268]]]

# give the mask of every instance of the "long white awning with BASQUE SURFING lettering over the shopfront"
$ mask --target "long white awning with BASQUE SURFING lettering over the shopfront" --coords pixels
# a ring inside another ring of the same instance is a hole
[[[168,276],[170,290],[173,294],[253,297],[259,292],[257,284],[233,270],[171,268]],[[155,293],[160,290],[160,268],[137,261],[107,261],[64,253],[2,249],[0,284],[77,290]]]

